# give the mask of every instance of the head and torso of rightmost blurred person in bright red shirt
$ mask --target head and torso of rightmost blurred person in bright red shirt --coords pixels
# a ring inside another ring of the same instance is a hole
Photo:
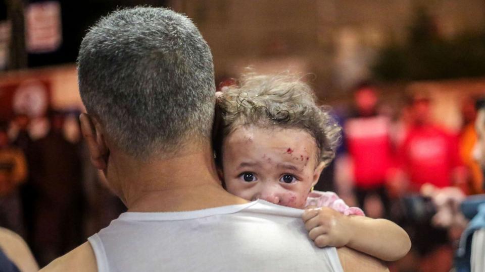
[[[458,137],[432,122],[430,106],[430,98],[423,95],[414,95],[409,102],[411,122],[398,153],[408,181],[400,180],[403,191],[419,192],[425,183],[437,187],[465,183]]]

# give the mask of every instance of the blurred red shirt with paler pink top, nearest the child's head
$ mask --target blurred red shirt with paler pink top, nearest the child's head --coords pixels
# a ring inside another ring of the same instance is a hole
[[[356,186],[384,184],[392,165],[389,126],[389,119],[384,116],[351,118],[345,123]]]

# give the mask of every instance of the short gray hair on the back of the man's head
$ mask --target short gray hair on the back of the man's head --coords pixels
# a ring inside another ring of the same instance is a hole
[[[136,158],[210,141],[214,66],[187,17],[136,7],[99,20],[82,40],[79,90],[118,148]]]

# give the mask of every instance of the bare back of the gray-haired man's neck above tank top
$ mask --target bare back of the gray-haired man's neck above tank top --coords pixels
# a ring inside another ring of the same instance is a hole
[[[206,149],[130,167],[110,158],[108,170],[117,178],[129,212],[193,211],[247,202],[222,188],[211,154]]]

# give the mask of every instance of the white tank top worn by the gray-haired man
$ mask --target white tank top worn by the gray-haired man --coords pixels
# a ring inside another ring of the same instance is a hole
[[[308,238],[303,211],[264,200],[179,213],[124,213],[89,237],[100,272],[338,271]]]

